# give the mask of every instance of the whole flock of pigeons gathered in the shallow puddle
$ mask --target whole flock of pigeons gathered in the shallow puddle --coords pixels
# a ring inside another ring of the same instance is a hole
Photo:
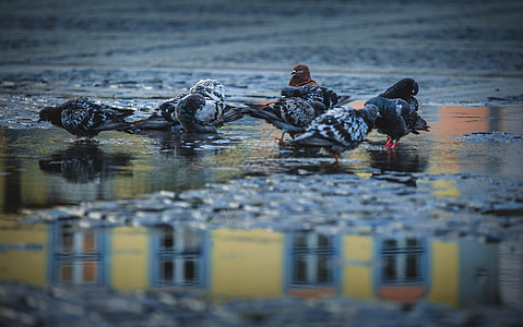
[[[293,138],[293,147],[319,147],[330,153],[335,162],[341,154],[356,148],[377,129],[388,137],[383,148],[395,148],[408,133],[429,131],[418,114],[415,95],[418,84],[403,78],[384,93],[365,102],[364,109],[343,107],[348,97],[338,97],[310,76],[309,68],[297,64],[282,97],[266,105],[245,104],[246,108],[225,102],[224,86],[215,80],[201,80],[182,94],[159,106],[147,119],[129,122],[132,109],[118,109],[79,97],[39,112],[39,121],[48,121],[76,135],[78,140],[93,140],[102,131],[134,133],[138,130],[170,129],[180,125],[185,132],[214,133],[216,128],[243,114],[264,119]]]

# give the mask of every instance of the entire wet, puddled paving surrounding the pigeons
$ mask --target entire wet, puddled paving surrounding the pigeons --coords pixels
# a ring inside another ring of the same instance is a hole
[[[1,7],[1,324],[523,320],[521,3]],[[95,144],[36,123],[80,95],[144,118],[207,77],[272,99],[297,62],[356,108],[414,77],[431,132],[333,165],[252,118]]]

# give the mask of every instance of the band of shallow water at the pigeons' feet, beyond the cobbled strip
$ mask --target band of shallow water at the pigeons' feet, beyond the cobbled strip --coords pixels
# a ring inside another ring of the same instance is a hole
[[[353,104],[358,107],[360,104]],[[416,177],[475,173],[522,180],[522,108],[426,106],[430,133],[408,135],[383,150],[383,135],[344,154],[341,165],[314,150],[278,148],[278,132],[243,118],[218,134],[143,131],[102,133],[76,144],[57,129],[2,129],[2,213],[181,192],[206,183],[275,172],[402,172]]]

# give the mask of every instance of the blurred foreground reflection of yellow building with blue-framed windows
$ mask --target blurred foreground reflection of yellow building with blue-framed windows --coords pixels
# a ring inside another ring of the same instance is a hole
[[[83,229],[74,220],[0,235],[0,280],[39,287],[180,287],[214,299],[523,304],[523,257],[514,243],[190,226]],[[20,246],[28,242],[38,246]]]

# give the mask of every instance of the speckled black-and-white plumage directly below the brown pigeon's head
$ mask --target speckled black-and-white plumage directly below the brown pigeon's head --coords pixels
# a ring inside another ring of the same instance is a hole
[[[334,90],[316,84],[284,86],[281,94],[283,97],[300,97],[309,102],[321,102],[326,109],[345,105],[349,98],[348,96],[338,97]]]

